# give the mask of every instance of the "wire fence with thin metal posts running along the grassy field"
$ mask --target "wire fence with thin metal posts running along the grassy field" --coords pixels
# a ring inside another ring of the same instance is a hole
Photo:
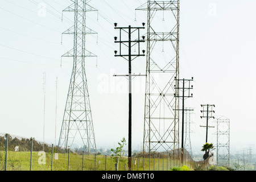
[[[57,146],[35,139],[0,134],[0,170],[6,171],[128,171],[129,158],[84,151],[57,150]],[[141,152],[131,157],[132,171],[169,171],[187,166],[211,166],[210,158],[195,161],[185,149],[166,152]]]

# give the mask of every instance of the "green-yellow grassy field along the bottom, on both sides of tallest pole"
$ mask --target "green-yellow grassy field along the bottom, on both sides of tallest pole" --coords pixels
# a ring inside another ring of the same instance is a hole
[[[82,155],[78,154],[57,154],[58,158],[55,159],[54,154],[45,153],[43,156],[40,152],[14,152],[7,153],[7,170],[9,171],[114,171],[116,159],[112,156],[105,155]],[[53,159],[53,160],[52,160]],[[167,160],[166,158],[151,158],[150,165],[148,158],[132,158],[133,170],[155,170],[167,171],[174,167],[180,167],[180,160]],[[32,164],[32,165],[31,165]],[[83,165],[84,164],[84,165]],[[0,151],[0,165],[1,170],[5,170],[5,152]],[[189,168],[195,167],[195,164],[185,163]],[[150,168],[149,168],[150,166]],[[125,171],[128,168],[128,158],[122,157],[118,162],[118,170]]]

